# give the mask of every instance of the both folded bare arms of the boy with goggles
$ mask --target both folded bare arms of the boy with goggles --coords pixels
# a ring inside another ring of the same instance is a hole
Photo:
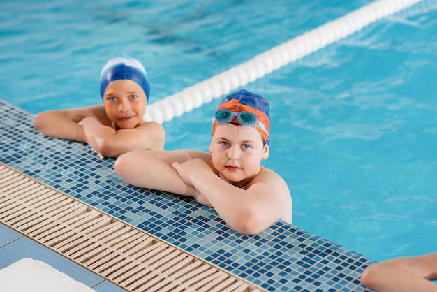
[[[206,152],[133,151],[119,156],[114,168],[137,187],[193,196],[243,234],[260,233],[283,219],[291,203],[288,187],[276,173],[263,168],[247,189],[240,189],[218,176]]]

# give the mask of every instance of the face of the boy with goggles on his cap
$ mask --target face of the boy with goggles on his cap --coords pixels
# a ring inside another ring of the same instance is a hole
[[[261,160],[269,156],[269,145],[263,144],[253,128],[218,125],[209,146],[212,164],[223,180],[242,187],[260,173]]]

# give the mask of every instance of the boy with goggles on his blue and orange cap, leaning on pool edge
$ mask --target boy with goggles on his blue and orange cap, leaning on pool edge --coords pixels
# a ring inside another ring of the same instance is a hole
[[[269,104],[240,90],[225,97],[212,119],[209,153],[133,151],[114,163],[126,182],[193,196],[214,207],[230,228],[257,234],[281,219],[292,221],[286,182],[261,166],[269,156]]]

